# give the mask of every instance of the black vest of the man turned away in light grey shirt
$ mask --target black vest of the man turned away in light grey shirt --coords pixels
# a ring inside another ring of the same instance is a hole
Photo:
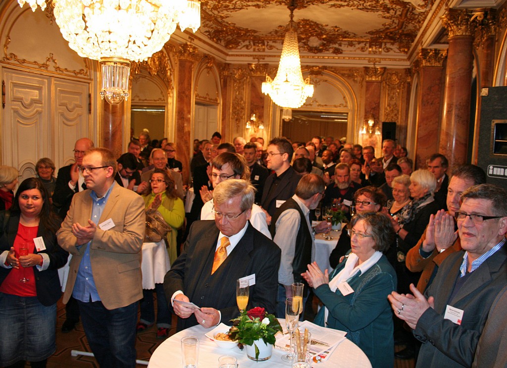
[[[280,207],[276,209],[275,215],[271,219],[270,233],[273,239],[275,238],[276,233],[276,221],[278,217],[282,214],[283,211],[287,209],[296,209],[299,212],[301,217],[301,222],[299,224],[298,235],[296,236],[296,251],[294,253],[294,260],[292,262],[292,273],[294,275],[294,282],[302,282],[305,285],[308,285],[301,276],[303,272],[306,272],[306,267],[312,261],[312,233],[308,229],[306,225],[305,214],[299,207],[298,202],[294,199],[287,199]],[[305,287],[305,290],[308,290],[308,286]],[[306,292],[305,292],[306,294]]]

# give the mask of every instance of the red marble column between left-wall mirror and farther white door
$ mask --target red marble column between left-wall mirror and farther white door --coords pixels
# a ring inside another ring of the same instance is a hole
[[[184,184],[187,184],[190,178],[189,147],[193,147],[190,130],[194,103],[192,80],[197,57],[197,48],[189,43],[180,45],[177,50],[175,143],[176,157],[183,164]]]

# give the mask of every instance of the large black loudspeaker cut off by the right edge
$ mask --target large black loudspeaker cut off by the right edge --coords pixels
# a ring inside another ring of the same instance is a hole
[[[507,189],[507,87],[481,90],[481,120],[477,165],[487,182]]]

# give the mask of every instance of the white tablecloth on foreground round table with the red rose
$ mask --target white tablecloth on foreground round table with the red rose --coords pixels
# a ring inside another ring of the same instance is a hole
[[[273,355],[266,361],[253,361],[246,356],[246,349],[242,351],[239,348],[221,349],[215,345],[212,340],[204,336],[212,328],[204,328],[200,324],[187,328],[171,336],[164,341],[153,352],[149,368],[179,368],[182,366],[180,340],[184,336],[194,335],[199,338],[199,362],[200,368],[214,368],[218,366],[218,359],[222,355],[234,355],[238,359],[240,368],[272,368],[272,367],[290,367],[290,363],[281,360],[281,356],[286,352],[273,349]],[[313,363],[312,367],[317,368],[369,368],[370,360],[357,345],[350,340],[345,339],[327,361]]]

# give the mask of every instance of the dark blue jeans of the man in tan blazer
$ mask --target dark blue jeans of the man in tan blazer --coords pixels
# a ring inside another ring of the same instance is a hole
[[[137,302],[107,310],[102,302],[78,300],[86,338],[102,368],[135,368]]]

